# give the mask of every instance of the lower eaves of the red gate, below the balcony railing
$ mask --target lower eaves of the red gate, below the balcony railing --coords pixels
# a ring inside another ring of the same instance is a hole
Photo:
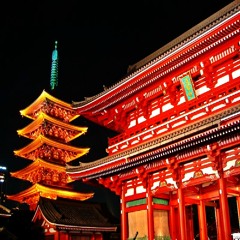
[[[211,121],[211,118],[209,118],[209,121]],[[189,127],[186,129],[189,129]],[[163,147],[161,147],[162,140],[159,138],[157,140],[153,140],[152,142],[145,143],[143,146],[135,147],[135,151],[133,151],[133,149],[131,150],[131,156],[129,156],[129,154],[126,155],[126,152],[123,153],[122,156],[125,155],[125,161],[122,161],[122,159],[118,156],[119,160],[113,165],[111,161],[113,161],[114,156],[110,156],[97,160],[93,163],[90,162],[83,165],[80,163],[80,166],[74,167],[68,166],[67,173],[73,179],[94,179],[111,174],[117,174],[121,171],[130,170],[133,167],[152,161],[156,158],[156,156],[158,159],[162,157],[166,159],[168,156],[177,154],[177,152],[183,149],[192,148],[200,143],[207,143],[210,139],[211,141],[216,141],[217,139],[222,138],[224,135],[229,133],[238,133],[239,129],[240,120],[237,119],[223,126],[212,127],[210,130],[203,131],[202,133],[199,133],[193,137],[185,138],[184,140],[176,141],[172,144],[169,142],[169,145]],[[174,138],[171,138],[171,141],[173,139]]]

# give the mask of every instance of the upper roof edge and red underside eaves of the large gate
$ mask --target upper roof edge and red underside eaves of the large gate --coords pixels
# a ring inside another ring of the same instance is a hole
[[[170,62],[171,66],[174,65],[174,68],[176,69],[176,66],[181,65],[180,62],[186,63],[186,60],[190,61],[192,58],[197,57],[201,51],[206,51],[206,43],[208,43],[209,46],[213,44],[212,34],[209,35],[209,31],[213,31],[214,28],[219,26],[221,27],[227,19],[230,19],[237,14],[239,14],[239,0],[227,5],[222,10],[183,33],[181,36],[163,46],[150,56],[134,64],[133,69],[136,69],[134,72],[129,73],[124,79],[105,91],[93,97],[87,97],[84,101],[73,101],[73,108],[77,109],[79,114],[94,114],[103,109],[109,108],[126,97],[129,97],[134,94],[135,91],[139,91],[139,88],[143,85],[140,84],[140,81],[144,81],[144,87],[146,87],[147,84],[152,84],[154,79],[151,78],[151,81],[149,80],[149,82],[147,82],[146,77],[149,77],[150,74],[156,74],[157,71],[159,71],[161,76],[164,76],[168,73]],[[235,25],[236,24],[239,25],[239,22],[237,23],[236,21]],[[235,28],[238,29],[237,26]],[[239,34],[234,29],[232,29],[232,31],[234,31],[235,34]],[[222,34],[222,32],[216,32],[214,42],[217,42],[217,39],[222,39]],[[226,36],[229,35],[227,31],[225,34]],[[202,44],[199,42],[199,39],[201,38]],[[183,49],[187,49],[188,51],[184,53]],[[189,52],[189,49],[191,49],[191,52]],[[169,64],[166,64],[166,59],[169,59]],[[163,66],[167,67],[167,70],[164,70]],[[133,85],[135,85],[135,87]]]

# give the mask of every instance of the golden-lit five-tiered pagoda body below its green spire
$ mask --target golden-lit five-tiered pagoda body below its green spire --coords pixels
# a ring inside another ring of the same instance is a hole
[[[89,148],[69,144],[71,140],[87,131],[86,127],[70,124],[78,117],[71,105],[44,90],[20,113],[33,121],[17,132],[32,141],[27,146],[15,150],[14,154],[30,160],[31,164],[12,172],[11,176],[30,181],[32,186],[18,194],[8,196],[8,199],[27,203],[30,209],[35,209],[40,197],[76,200],[93,197],[93,193],[79,193],[69,187],[72,180],[66,174],[66,164],[89,152]]]

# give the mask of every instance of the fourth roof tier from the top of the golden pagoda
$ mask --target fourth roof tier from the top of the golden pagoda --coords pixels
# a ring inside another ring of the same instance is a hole
[[[54,175],[55,185],[64,185],[73,180],[66,174],[66,168],[57,164],[37,159],[30,165],[19,171],[11,172],[11,177],[27,180],[32,183],[49,181],[47,174]],[[54,182],[53,182],[54,184]]]

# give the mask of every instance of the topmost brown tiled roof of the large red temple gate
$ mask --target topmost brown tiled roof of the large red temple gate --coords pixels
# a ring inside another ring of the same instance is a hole
[[[121,99],[123,99],[124,97],[126,97],[127,95],[133,94],[133,90],[127,93],[127,90],[129,90],[130,88],[135,89],[135,91],[138,90],[138,87],[133,87],[133,85],[140,85],[140,87],[142,87],[142,84],[140,84],[142,77],[139,77],[138,82],[136,82],[135,77],[137,77],[139,74],[142,74],[143,72],[147,71],[149,68],[156,66],[156,64],[159,64],[161,61],[163,61],[163,59],[169,58],[170,56],[172,56],[174,53],[176,54],[177,51],[179,51],[181,48],[183,48],[183,46],[186,46],[188,44],[190,44],[191,41],[193,41],[194,39],[197,39],[198,37],[207,34],[208,31],[216,26],[218,26],[219,24],[223,23],[227,18],[229,18],[230,16],[233,16],[234,14],[236,14],[239,11],[239,0],[233,1],[232,3],[228,4],[225,8],[221,9],[220,11],[218,11],[217,13],[213,14],[212,16],[210,16],[209,18],[207,18],[206,20],[202,21],[201,23],[199,23],[198,25],[194,26],[193,28],[191,28],[190,30],[186,31],[185,33],[183,33],[182,35],[180,35],[179,37],[177,37],[176,39],[174,39],[173,41],[169,42],[168,44],[166,44],[165,46],[161,47],[159,50],[155,51],[154,53],[152,53],[151,55],[147,56],[146,58],[144,58],[143,60],[139,61],[136,64],[133,64],[131,67],[131,72],[129,74],[127,74],[126,77],[124,77],[123,79],[121,79],[120,81],[118,81],[116,84],[114,84],[111,87],[106,88],[103,92],[100,92],[99,94],[92,96],[92,97],[86,97],[83,101],[72,101],[72,105],[74,109],[77,108],[85,108],[82,112],[84,111],[90,111],[91,108],[97,108],[97,111],[101,110],[101,107],[97,107],[98,105],[101,105],[105,102],[105,106],[103,108],[106,108],[108,106],[111,106],[115,103],[117,103],[118,101],[120,101]],[[221,33],[222,34],[222,33]],[[219,35],[219,34],[218,34]],[[218,36],[219,39],[222,38],[222,35]],[[209,45],[212,44],[211,42],[211,37],[209,37]],[[206,42],[204,42],[205,45]],[[197,44],[197,48],[194,48],[195,50],[199,50],[198,48],[201,47],[200,44]],[[203,47],[201,47],[202,49]],[[180,64],[179,62],[181,62],[183,60],[183,58],[188,59],[189,60],[189,52],[187,52],[186,56],[184,56],[184,54],[177,54],[177,58],[175,59],[178,64]],[[192,55],[194,56],[194,52],[192,53]],[[199,53],[198,53],[199,54]],[[173,64],[173,61],[171,60],[171,63]],[[164,64],[165,66],[166,64]],[[174,66],[177,65],[176,62],[174,63]],[[164,67],[164,66],[161,66]],[[169,70],[169,66],[167,67],[167,69]],[[149,76],[150,74],[155,74],[157,71],[159,70],[159,68],[155,69],[154,72],[150,72],[147,74],[147,76]],[[161,69],[161,73],[160,75],[165,75],[167,72],[164,71],[164,69]],[[131,81],[134,78],[134,81],[132,83],[129,83],[129,81]],[[144,77],[145,78],[145,77]],[[154,79],[153,79],[154,80]],[[149,84],[147,83],[146,79],[144,80],[145,84]],[[125,85],[126,84],[126,85]],[[117,89],[117,92],[114,90]],[[116,96],[117,93],[117,96]],[[96,101],[99,102],[96,102]],[[91,105],[91,103],[95,103],[94,106]],[[99,110],[100,109],[100,110]],[[91,110],[92,111],[92,110]],[[81,111],[80,111],[81,112]]]

